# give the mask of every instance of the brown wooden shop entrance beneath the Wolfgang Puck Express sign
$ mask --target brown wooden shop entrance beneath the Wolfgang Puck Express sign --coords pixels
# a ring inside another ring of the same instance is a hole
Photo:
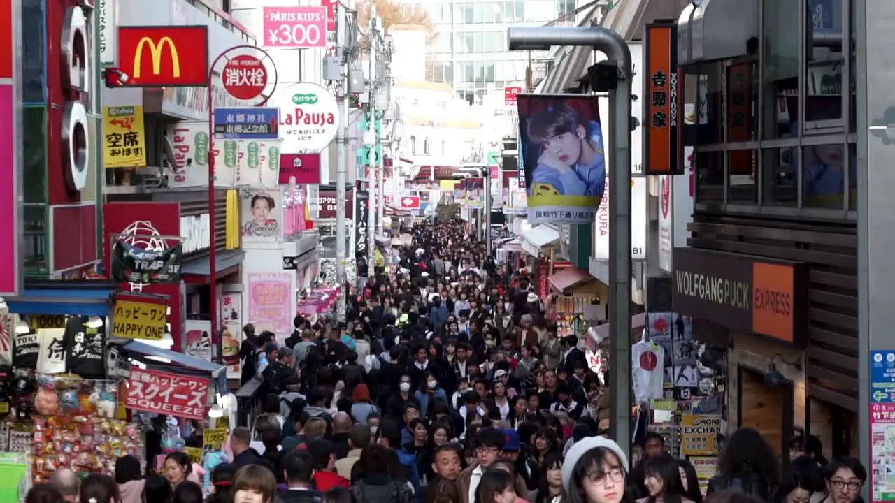
[[[737,423],[759,431],[786,464],[793,431],[792,383],[766,388],[763,372],[742,365],[737,366],[737,382]]]

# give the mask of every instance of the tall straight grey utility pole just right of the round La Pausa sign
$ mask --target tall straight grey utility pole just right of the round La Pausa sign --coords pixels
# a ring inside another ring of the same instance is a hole
[[[345,51],[348,45],[348,21],[345,18],[347,6],[339,2],[336,9],[336,55],[342,63],[342,90],[339,106],[339,120],[341,124],[336,137],[337,164],[336,164],[336,280],[339,295],[336,305],[336,318],[345,321],[345,299],[348,297],[345,284],[345,183],[347,183],[347,159],[345,158],[345,144],[348,136],[348,53]]]

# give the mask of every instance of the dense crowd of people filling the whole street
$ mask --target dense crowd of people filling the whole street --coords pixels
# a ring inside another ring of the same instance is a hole
[[[694,467],[660,435],[640,439],[635,465],[607,438],[611,383],[577,337],[557,336],[552,300],[524,270],[492,260],[464,222],[408,231],[413,245],[374,264],[344,322],[296,318],[282,346],[244,328],[243,382],[263,383],[263,413],[234,428],[208,490],[175,452],[145,476],[128,456],[115,479],[61,471],[28,501],[703,503]],[[856,459],[828,463],[811,436],[790,451],[784,470],[761,434],[737,430],[705,500],[860,499]]]

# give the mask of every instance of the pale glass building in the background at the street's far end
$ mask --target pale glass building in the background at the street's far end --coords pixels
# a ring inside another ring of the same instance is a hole
[[[507,28],[543,26],[575,11],[576,0],[435,2],[417,5],[430,13],[436,34],[427,74],[446,82],[470,103],[507,86],[524,86],[530,61],[552,60],[552,51],[507,51]]]

